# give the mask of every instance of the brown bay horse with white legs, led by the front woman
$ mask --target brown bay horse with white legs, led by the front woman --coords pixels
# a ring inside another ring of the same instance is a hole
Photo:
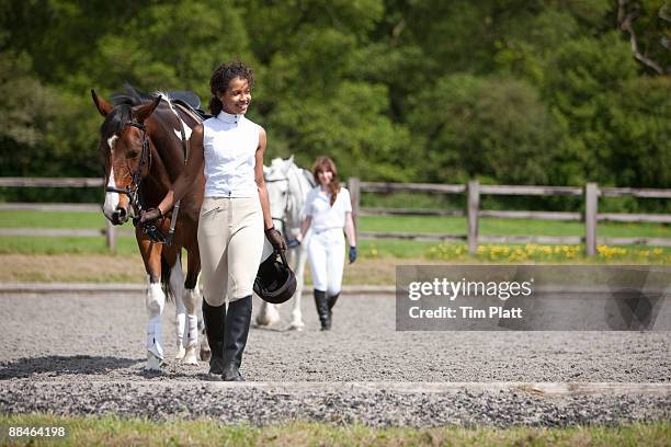
[[[148,95],[132,85],[126,85],[125,93],[113,96],[113,105],[93,90],[91,95],[104,116],[99,142],[105,170],[103,213],[113,225],[123,225],[130,217],[137,222],[139,210],[156,207],[184,169],[187,144],[183,141],[202,119],[164,93]],[[168,237],[171,243],[163,242],[164,234],[170,233],[174,210],[153,226],[135,227],[148,279],[146,370],[161,370],[163,363],[161,314],[166,291],[175,299],[175,359],[197,364],[197,311],[202,297],[197,287],[201,260],[196,236],[204,187],[205,177],[201,173],[181,200],[174,233]],[[182,249],[187,254],[185,277]],[[203,337],[201,358],[207,362],[208,354],[207,340]]]

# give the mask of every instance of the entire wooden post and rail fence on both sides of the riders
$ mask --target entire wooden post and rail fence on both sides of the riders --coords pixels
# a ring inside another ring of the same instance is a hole
[[[102,179],[36,179],[36,177],[0,177],[0,187],[102,187]],[[670,214],[630,214],[599,213],[599,197],[646,197],[671,198],[671,190],[599,187],[588,183],[584,187],[577,186],[525,186],[525,185],[481,185],[477,181],[468,184],[430,184],[430,183],[382,183],[362,182],[350,179],[348,187],[352,196],[353,215],[371,216],[456,216],[467,218],[466,232],[463,234],[418,233],[418,232],[367,232],[359,231],[361,239],[402,239],[435,242],[467,243],[468,251],[476,253],[479,243],[548,243],[580,244],[584,243],[585,255],[596,254],[596,245],[652,245],[671,247],[667,238],[600,238],[596,236],[596,225],[601,221],[615,222],[653,222],[671,224]],[[410,209],[410,208],[362,208],[362,193],[431,193],[431,194],[466,194],[466,209]],[[584,213],[579,211],[520,211],[480,209],[482,195],[508,196],[581,196],[584,202]],[[43,210],[43,211],[101,211],[100,204],[0,204],[0,210]],[[478,233],[480,218],[504,219],[541,219],[582,221],[584,236],[485,236]],[[1,224],[0,224],[1,225]],[[359,228],[355,221],[355,227]],[[105,237],[110,250],[116,250],[117,236],[133,236],[132,228],[116,228],[105,219],[105,228],[101,229],[67,229],[67,228],[0,228],[0,236],[15,237]]]

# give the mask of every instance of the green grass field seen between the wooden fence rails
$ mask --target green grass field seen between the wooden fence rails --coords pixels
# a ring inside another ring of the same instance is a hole
[[[130,224],[126,224],[128,228]],[[102,213],[58,213],[58,211],[0,211],[2,228],[103,228]],[[362,216],[359,220],[361,231],[394,231],[465,234],[466,219],[440,216]],[[488,219],[480,220],[480,234],[489,236],[581,236],[584,228],[580,222],[562,222],[532,219]],[[603,222],[598,227],[600,237],[656,237],[671,238],[671,226],[660,224],[617,224]],[[364,257],[431,257],[441,260],[463,260],[464,244],[437,244],[403,240],[362,240],[360,253]],[[511,248],[523,247],[509,244]],[[645,248],[627,248],[641,250]],[[437,255],[435,254],[437,251]],[[663,249],[662,257],[671,253]],[[59,253],[107,253],[103,237],[100,238],[45,238],[45,237],[0,237],[0,253],[59,254]],[[120,237],[117,253],[136,253],[134,238]],[[496,261],[490,255],[480,256]],[[626,256],[625,256],[626,257]],[[640,261],[635,256],[635,261]],[[553,261],[544,259],[543,261]],[[557,259],[556,261],[561,261]]]

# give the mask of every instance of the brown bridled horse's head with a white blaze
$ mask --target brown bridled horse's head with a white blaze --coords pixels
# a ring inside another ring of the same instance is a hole
[[[105,165],[105,203],[103,213],[114,225],[128,220],[137,206],[137,191],[141,179],[149,172],[150,140],[145,121],[160,102],[132,106],[112,106],[93,90],[93,102],[105,117],[100,128],[100,152]]]

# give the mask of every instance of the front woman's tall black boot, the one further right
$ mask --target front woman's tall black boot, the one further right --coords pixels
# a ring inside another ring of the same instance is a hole
[[[227,381],[243,381],[239,371],[242,364],[242,352],[247,345],[249,324],[251,322],[251,295],[228,305],[226,314],[225,359],[226,367],[221,378]]]

